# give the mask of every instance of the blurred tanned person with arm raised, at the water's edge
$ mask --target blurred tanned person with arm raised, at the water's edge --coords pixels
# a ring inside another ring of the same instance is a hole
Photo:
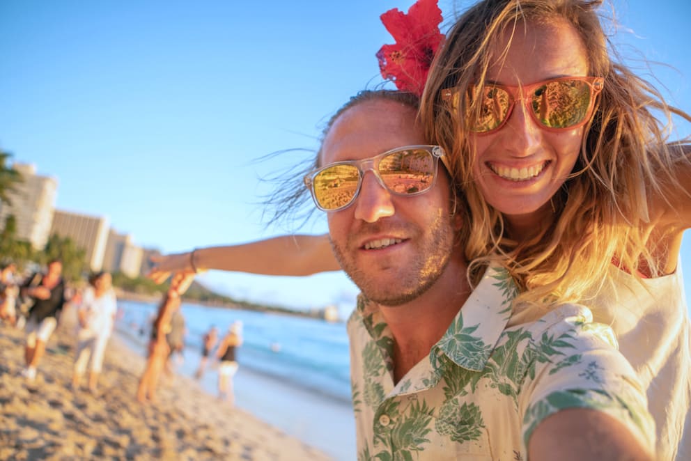
[[[139,403],[155,401],[158,381],[170,354],[166,335],[171,330],[171,318],[173,312],[180,308],[180,297],[187,291],[193,280],[194,273],[175,274],[171,279],[170,288],[158,307],[151,328],[146,366],[137,387],[137,401]]]

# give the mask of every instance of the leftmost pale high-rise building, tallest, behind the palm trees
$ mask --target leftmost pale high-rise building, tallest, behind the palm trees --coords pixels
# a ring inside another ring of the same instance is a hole
[[[58,180],[36,174],[36,165],[15,163],[22,175],[14,191],[8,192],[10,203],[0,203],[0,228],[12,214],[17,221],[17,239],[26,240],[36,250],[43,249],[53,221]]]

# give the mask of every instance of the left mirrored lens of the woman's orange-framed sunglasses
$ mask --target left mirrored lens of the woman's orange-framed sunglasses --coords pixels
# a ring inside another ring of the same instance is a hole
[[[485,86],[468,88],[470,129],[474,132],[494,130],[502,124],[511,107],[511,95],[499,86]]]

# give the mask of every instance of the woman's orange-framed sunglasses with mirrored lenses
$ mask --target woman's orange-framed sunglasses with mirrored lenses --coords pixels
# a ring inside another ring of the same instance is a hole
[[[466,117],[470,130],[489,134],[500,130],[515,104],[523,101],[528,114],[541,128],[577,128],[590,120],[596,96],[603,85],[602,77],[560,77],[520,87],[471,85],[465,96]],[[451,101],[453,109],[458,110],[459,94],[448,88],[442,91],[442,100]]]

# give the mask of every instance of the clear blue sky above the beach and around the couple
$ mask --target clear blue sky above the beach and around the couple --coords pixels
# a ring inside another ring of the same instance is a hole
[[[0,148],[58,178],[57,208],[105,215],[143,246],[184,251],[286,233],[262,220],[271,186],[260,178],[306,155],[256,159],[313,150],[350,95],[382,84],[374,54],[393,40],[379,15],[412,3],[1,0]],[[469,3],[440,0],[445,23]],[[690,3],[614,7],[623,54],[691,110]],[[319,215],[301,229],[325,230]],[[203,281],[255,302],[335,302],[343,313],[357,292],[342,273]]]

